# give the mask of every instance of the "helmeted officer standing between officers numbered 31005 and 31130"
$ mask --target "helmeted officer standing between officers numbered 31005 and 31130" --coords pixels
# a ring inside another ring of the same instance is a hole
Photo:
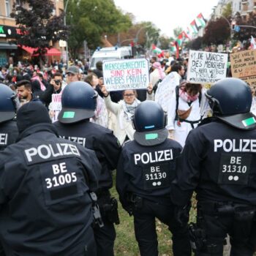
[[[61,103],[59,121],[54,123],[59,135],[94,150],[102,165],[96,194],[104,226],[97,221],[94,236],[97,255],[110,256],[116,238],[113,222],[118,224],[118,213],[117,201],[111,198],[109,189],[113,186],[112,170],[116,169],[121,147],[110,129],[89,121],[96,109],[97,91],[88,83],[69,83],[63,91]]]

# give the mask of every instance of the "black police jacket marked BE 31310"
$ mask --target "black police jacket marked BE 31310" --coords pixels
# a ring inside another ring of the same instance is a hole
[[[173,203],[198,200],[256,206],[256,130],[242,130],[212,118],[193,129],[178,159]]]

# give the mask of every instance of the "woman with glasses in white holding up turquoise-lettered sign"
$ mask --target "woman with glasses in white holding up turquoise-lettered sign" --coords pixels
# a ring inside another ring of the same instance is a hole
[[[153,87],[150,83],[147,89],[147,99],[154,100]],[[116,116],[116,127],[113,130],[121,145],[127,140],[133,140],[135,129],[132,127],[132,117],[140,104],[136,90],[124,90],[123,97],[118,103],[113,102],[106,87],[102,86],[105,105]]]

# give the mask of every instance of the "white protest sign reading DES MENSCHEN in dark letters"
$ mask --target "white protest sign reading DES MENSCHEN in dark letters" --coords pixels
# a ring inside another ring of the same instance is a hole
[[[187,72],[190,83],[215,83],[226,77],[227,54],[189,50]]]

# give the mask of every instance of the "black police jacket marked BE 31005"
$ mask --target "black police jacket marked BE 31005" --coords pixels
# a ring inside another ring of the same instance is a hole
[[[51,124],[25,129],[0,152],[0,236],[7,255],[84,255],[92,222],[94,151],[56,136]]]

